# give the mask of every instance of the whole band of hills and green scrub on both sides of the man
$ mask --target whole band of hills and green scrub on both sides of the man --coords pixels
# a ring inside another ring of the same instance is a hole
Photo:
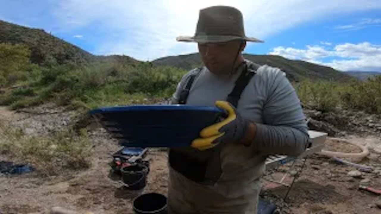
[[[261,65],[279,67],[290,81],[299,82],[296,91],[311,109],[330,112],[339,106],[381,113],[381,76],[346,82],[356,78],[280,56],[244,56]],[[95,56],[43,30],[8,22],[0,22],[0,59],[0,105],[13,109],[49,102],[85,110],[162,102],[172,96],[186,70],[202,64],[197,53],[152,62],[119,55]]]

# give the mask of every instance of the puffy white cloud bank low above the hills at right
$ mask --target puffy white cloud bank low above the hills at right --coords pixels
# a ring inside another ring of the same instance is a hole
[[[369,42],[358,44],[344,43],[327,50],[321,46],[306,46],[306,49],[276,47],[269,54],[280,55],[289,59],[301,59],[323,64],[338,70],[381,71],[381,45]],[[330,62],[323,62],[327,57],[335,57]]]

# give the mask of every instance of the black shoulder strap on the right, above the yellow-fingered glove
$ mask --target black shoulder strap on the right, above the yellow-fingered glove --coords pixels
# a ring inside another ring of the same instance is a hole
[[[235,81],[233,91],[227,96],[226,101],[230,102],[234,107],[237,108],[238,101],[241,98],[243,90],[246,88],[247,84],[254,75],[255,72],[250,72],[248,70],[247,64],[245,63],[245,69],[242,71],[241,75]]]

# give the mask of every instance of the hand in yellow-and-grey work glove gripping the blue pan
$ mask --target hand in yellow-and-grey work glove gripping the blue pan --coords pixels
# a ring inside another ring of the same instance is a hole
[[[219,143],[237,143],[246,138],[249,138],[249,140],[253,138],[252,133],[254,131],[255,134],[255,130],[249,129],[253,129],[255,125],[243,118],[232,104],[226,101],[216,101],[216,106],[227,111],[227,118],[202,129],[200,132],[201,138],[192,141],[191,147],[205,150],[213,148]],[[243,142],[243,144],[245,143]]]

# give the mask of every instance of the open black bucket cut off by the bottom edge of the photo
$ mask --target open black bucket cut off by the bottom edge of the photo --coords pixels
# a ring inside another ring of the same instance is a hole
[[[166,197],[158,193],[147,193],[134,200],[136,214],[167,214]]]

